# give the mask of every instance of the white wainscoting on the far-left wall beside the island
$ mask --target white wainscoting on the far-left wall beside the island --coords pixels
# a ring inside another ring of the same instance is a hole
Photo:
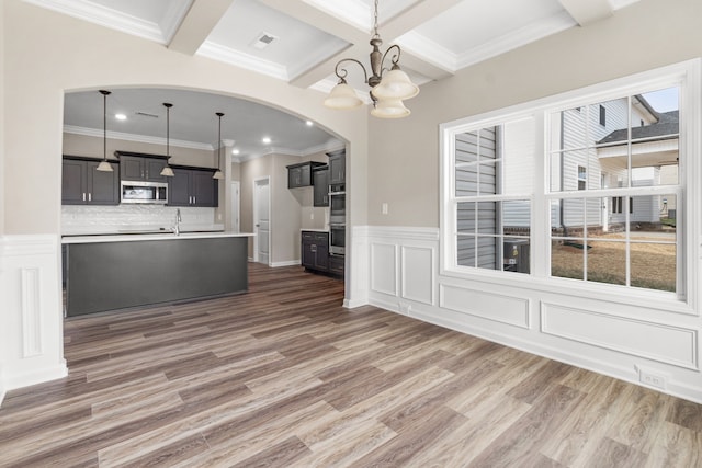
[[[59,247],[53,235],[0,237],[0,397],[68,374]]]

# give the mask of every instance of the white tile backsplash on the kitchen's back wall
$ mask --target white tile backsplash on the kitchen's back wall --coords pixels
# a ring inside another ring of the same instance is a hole
[[[176,224],[173,206],[117,205],[117,206],[61,206],[61,233],[105,233],[125,229],[160,229]],[[181,229],[212,229],[215,225],[215,208],[182,207]],[[220,227],[220,226],[219,226]]]

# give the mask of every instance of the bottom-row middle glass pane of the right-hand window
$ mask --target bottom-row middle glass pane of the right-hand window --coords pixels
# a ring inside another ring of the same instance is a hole
[[[626,284],[626,242],[624,240],[588,239],[588,281]]]

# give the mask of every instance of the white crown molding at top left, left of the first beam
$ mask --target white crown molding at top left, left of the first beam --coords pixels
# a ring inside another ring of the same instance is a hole
[[[34,4],[36,7],[45,8],[56,11],[58,13],[68,14],[79,20],[88,21],[91,23],[100,24],[101,26],[110,27],[122,33],[132,34],[138,37],[143,37],[149,41],[157,42],[159,44],[167,43],[167,36],[161,30],[161,26],[151,21],[145,21],[129,14],[121,13],[110,8],[87,2],[75,0],[24,0],[26,3]],[[181,9],[183,10],[183,9]],[[184,11],[181,14],[184,14]],[[176,12],[177,13],[177,12]],[[173,32],[178,26],[181,18],[169,18],[168,21],[171,24],[167,24],[167,27]],[[171,33],[172,34],[172,33]]]

